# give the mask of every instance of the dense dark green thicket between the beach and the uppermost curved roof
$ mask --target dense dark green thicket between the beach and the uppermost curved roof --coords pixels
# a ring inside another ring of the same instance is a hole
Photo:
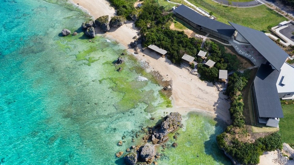
[[[201,41],[188,38],[183,31],[170,30],[171,16],[172,13],[164,12],[163,6],[159,6],[153,1],[145,1],[135,24],[141,28],[140,33],[144,39],[143,47],[155,44],[168,51],[168,58],[172,63],[179,64],[185,53],[191,56],[196,55]]]

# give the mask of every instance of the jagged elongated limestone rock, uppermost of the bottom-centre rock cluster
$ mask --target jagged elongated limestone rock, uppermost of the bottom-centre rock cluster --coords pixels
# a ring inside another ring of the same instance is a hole
[[[171,112],[168,116],[165,117],[165,121],[161,123],[160,129],[154,131],[155,138],[160,141],[164,141],[164,137],[176,130],[182,125],[182,116],[178,112]]]

